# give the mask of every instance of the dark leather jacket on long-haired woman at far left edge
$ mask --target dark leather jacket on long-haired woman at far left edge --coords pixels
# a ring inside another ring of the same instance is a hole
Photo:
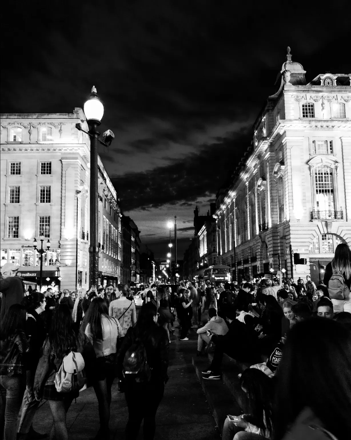
[[[29,342],[22,330],[16,331],[11,338],[0,344],[0,374],[13,376],[24,374],[26,371],[26,354],[29,352]]]

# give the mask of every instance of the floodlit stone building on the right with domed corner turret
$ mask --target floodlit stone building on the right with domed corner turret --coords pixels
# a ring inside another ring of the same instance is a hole
[[[318,282],[337,244],[351,245],[351,76],[326,73],[307,84],[305,73],[288,48],[278,90],[218,195],[218,256],[233,264],[232,279],[272,268]]]

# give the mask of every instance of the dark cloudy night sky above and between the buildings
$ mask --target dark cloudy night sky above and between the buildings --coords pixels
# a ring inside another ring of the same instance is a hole
[[[269,6],[267,6],[269,4]],[[328,12],[330,11],[330,14]],[[1,112],[72,112],[94,84],[99,154],[156,258],[178,257],[250,145],[291,47],[311,81],[350,73],[350,6],[308,2],[11,1],[2,7]]]

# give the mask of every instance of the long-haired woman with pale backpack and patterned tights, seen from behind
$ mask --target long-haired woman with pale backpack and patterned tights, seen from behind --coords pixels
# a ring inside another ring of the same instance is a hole
[[[66,414],[92,374],[96,355],[87,336],[75,332],[69,308],[60,304],[53,315],[34,378],[36,400],[48,400],[54,423],[50,438],[68,440]]]

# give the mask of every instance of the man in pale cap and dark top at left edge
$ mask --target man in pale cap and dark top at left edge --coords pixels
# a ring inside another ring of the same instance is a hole
[[[16,276],[18,267],[12,263],[6,263],[1,268],[0,292],[1,300],[0,321],[4,318],[7,309],[12,304],[20,304],[25,293],[22,278]]]

